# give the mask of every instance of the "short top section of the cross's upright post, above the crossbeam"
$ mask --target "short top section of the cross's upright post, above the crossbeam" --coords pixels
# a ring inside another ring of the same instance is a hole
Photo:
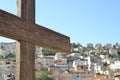
[[[26,22],[35,23],[35,0],[17,0],[17,16]]]

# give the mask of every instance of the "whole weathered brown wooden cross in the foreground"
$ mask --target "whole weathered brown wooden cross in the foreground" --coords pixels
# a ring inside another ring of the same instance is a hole
[[[16,80],[35,80],[35,46],[69,53],[69,37],[35,24],[35,0],[18,0],[18,16],[0,10],[0,36],[17,40]]]

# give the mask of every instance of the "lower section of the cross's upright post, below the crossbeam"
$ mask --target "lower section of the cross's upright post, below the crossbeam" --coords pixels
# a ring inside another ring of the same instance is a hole
[[[35,46],[25,41],[17,41],[16,47],[15,80],[35,80]]]

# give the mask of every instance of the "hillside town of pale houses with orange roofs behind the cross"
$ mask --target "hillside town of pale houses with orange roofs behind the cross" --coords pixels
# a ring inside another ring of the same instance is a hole
[[[71,43],[71,53],[35,47],[36,80],[120,80],[120,44]],[[0,43],[0,80],[15,80],[16,43]]]

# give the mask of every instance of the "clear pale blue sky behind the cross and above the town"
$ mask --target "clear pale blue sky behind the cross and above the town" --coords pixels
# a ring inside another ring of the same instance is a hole
[[[16,0],[0,0],[0,9],[16,15]],[[120,43],[120,0],[36,0],[36,24],[69,36],[71,43]]]

